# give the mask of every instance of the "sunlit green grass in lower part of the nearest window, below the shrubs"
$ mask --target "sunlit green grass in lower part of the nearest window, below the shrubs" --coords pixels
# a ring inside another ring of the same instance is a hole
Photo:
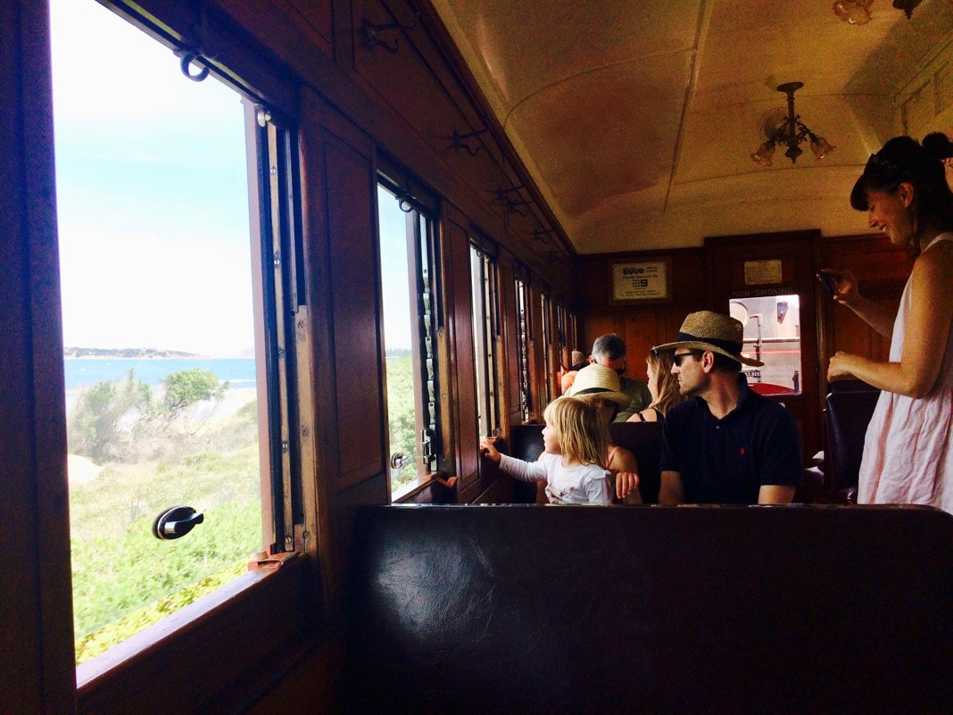
[[[252,402],[201,434],[152,435],[152,459],[71,482],[76,664],[230,582],[261,548],[255,415]],[[177,505],[203,523],[157,540],[153,521]]]

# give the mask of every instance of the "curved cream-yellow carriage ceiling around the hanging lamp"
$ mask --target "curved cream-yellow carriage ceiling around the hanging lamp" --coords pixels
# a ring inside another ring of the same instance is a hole
[[[953,39],[949,0],[909,20],[875,0],[864,25],[827,0],[432,2],[579,254],[862,233],[853,181],[902,133],[898,97]],[[802,121],[837,148],[818,162],[805,143],[797,164],[780,148],[760,167],[750,154],[789,81],[804,84]],[[930,129],[947,128],[950,92]]]

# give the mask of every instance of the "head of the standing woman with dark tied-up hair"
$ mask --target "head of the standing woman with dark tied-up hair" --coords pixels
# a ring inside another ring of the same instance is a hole
[[[882,228],[895,242],[919,251],[927,225],[953,227],[953,193],[944,166],[950,157],[953,143],[943,133],[927,134],[923,144],[909,136],[895,136],[880,152],[870,155],[850,193],[850,205],[869,212],[872,227]],[[909,214],[908,220],[882,214],[890,198],[899,201],[896,206]]]

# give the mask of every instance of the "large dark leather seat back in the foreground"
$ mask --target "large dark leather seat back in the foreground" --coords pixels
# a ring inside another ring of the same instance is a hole
[[[910,506],[377,506],[342,711],[941,713],[953,516]]]

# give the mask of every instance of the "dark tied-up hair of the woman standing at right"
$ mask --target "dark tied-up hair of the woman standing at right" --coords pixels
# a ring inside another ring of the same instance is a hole
[[[953,224],[953,192],[944,167],[951,157],[953,142],[944,133],[927,134],[923,144],[909,136],[895,136],[880,152],[870,155],[850,193],[850,205],[867,211],[869,190],[893,194],[907,182],[914,187],[914,234],[928,217]]]

